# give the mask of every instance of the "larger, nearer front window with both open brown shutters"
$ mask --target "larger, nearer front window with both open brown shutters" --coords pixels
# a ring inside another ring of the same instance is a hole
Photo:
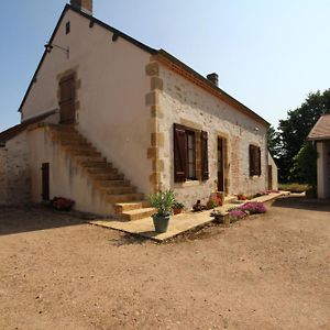
[[[200,134],[200,145],[196,143],[197,134]],[[209,178],[207,136],[207,132],[197,132],[174,124],[174,180],[176,183],[183,183],[187,179],[196,180],[197,172],[200,172],[202,180]],[[198,162],[200,163],[200,170],[197,170],[196,167],[197,153],[200,157],[200,162]]]

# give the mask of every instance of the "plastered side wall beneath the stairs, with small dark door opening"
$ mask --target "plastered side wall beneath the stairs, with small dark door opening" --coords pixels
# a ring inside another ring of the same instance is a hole
[[[51,198],[65,197],[75,200],[75,209],[99,216],[114,215],[111,205],[102,200],[91,183],[62,148],[52,140],[48,128],[29,132],[31,145],[32,200],[42,201],[42,164],[50,163]]]

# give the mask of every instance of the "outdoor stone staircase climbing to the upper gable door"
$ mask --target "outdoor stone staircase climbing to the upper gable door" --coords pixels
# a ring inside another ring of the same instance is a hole
[[[151,217],[154,209],[144,200],[118,168],[108,163],[73,125],[50,125],[52,140],[61,147],[87,176],[92,187],[116,210],[117,218],[123,221]]]

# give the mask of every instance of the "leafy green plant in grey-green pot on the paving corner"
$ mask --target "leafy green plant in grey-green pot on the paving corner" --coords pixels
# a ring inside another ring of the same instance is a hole
[[[151,194],[148,195],[147,200],[151,207],[156,209],[156,213],[153,216],[155,231],[160,233],[166,232],[172,208],[175,204],[174,193],[172,190],[165,190]]]

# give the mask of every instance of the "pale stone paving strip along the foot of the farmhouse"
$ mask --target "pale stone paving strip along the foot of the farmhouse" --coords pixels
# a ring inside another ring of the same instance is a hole
[[[254,199],[248,200],[246,202],[249,201],[266,202],[287,195],[289,195],[288,191],[280,191],[279,194],[270,194],[266,196],[256,197]],[[223,213],[226,213],[228,212],[229,209],[238,206],[239,206],[238,204],[226,204],[222,207],[216,208],[216,210],[220,210],[220,211],[222,210]],[[109,219],[109,220],[94,220],[90,221],[89,223],[98,227],[114,229],[122,232],[140,235],[157,242],[164,242],[166,240],[179,235],[180,233],[184,233],[186,231],[199,227],[201,228],[212,222],[213,219],[210,217],[211,212],[212,210],[207,210],[207,211],[196,212],[196,213],[187,212],[187,213],[173,216],[170,217],[169,220],[168,230],[165,233],[156,233],[154,231],[154,224],[151,217],[140,219],[136,221],[129,221],[129,222],[122,222],[122,221],[117,221],[114,219],[113,220]]]

